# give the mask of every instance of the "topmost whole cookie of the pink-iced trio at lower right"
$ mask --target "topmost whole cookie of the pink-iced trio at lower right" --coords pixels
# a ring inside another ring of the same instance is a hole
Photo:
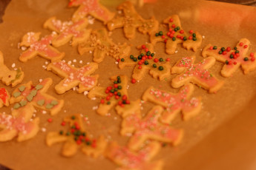
[[[142,100],[163,106],[165,109],[160,121],[169,124],[179,112],[183,113],[183,120],[188,120],[200,112],[201,98],[190,99],[193,91],[194,86],[192,84],[186,84],[177,94],[155,89],[151,86],[144,92]]]

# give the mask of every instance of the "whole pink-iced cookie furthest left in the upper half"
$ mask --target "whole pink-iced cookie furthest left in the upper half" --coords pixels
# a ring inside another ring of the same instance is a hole
[[[20,46],[28,47],[28,49],[19,56],[20,61],[27,62],[27,60],[35,58],[37,55],[50,61],[61,60],[64,57],[64,52],[59,52],[50,45],[53,39],[56,38],[56,33],[53,32],[41,39],[40,34],[29,32],[23,36]]]

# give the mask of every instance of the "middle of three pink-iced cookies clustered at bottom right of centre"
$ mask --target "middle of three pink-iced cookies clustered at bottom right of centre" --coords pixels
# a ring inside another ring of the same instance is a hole
[[[162,106],[154,106],[144,118],[139,110],[123,119],[121,135],[131,135],[128,142],[130,149],[140,149],[146,140],[172,143],[174,146],[180,143],[183,130],[173,129],[169,125],[160,123],[162,113]]]

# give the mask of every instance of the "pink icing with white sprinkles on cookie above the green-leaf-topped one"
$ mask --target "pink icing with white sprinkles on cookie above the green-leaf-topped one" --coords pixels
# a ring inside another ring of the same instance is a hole
[[[65,72],[67,78],[63,82],[62,86],[68,86],[73,81],[79,81],[85,87],[92,87],[96,83],[96,78],[91,76],[85,76],[87,72],[90,72],[92,67],[90,65],[82,67],[80,69],[74,69],[70,65],[66,64],[63,61],[53,63],[54,67],[62,69]]]

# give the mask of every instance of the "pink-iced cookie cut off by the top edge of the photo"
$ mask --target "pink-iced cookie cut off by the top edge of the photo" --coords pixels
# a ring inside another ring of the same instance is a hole
[[[110,10],[108,10],[108,8],[100,4],[99,0],[70,0],[68,7],[77,6],[79,6],[79,8],[76,10],[75,13],[73,13],[73,21],[79,21],[79,19],[91,15],[106,24],[114,17],[114,13],[112,13]]]

